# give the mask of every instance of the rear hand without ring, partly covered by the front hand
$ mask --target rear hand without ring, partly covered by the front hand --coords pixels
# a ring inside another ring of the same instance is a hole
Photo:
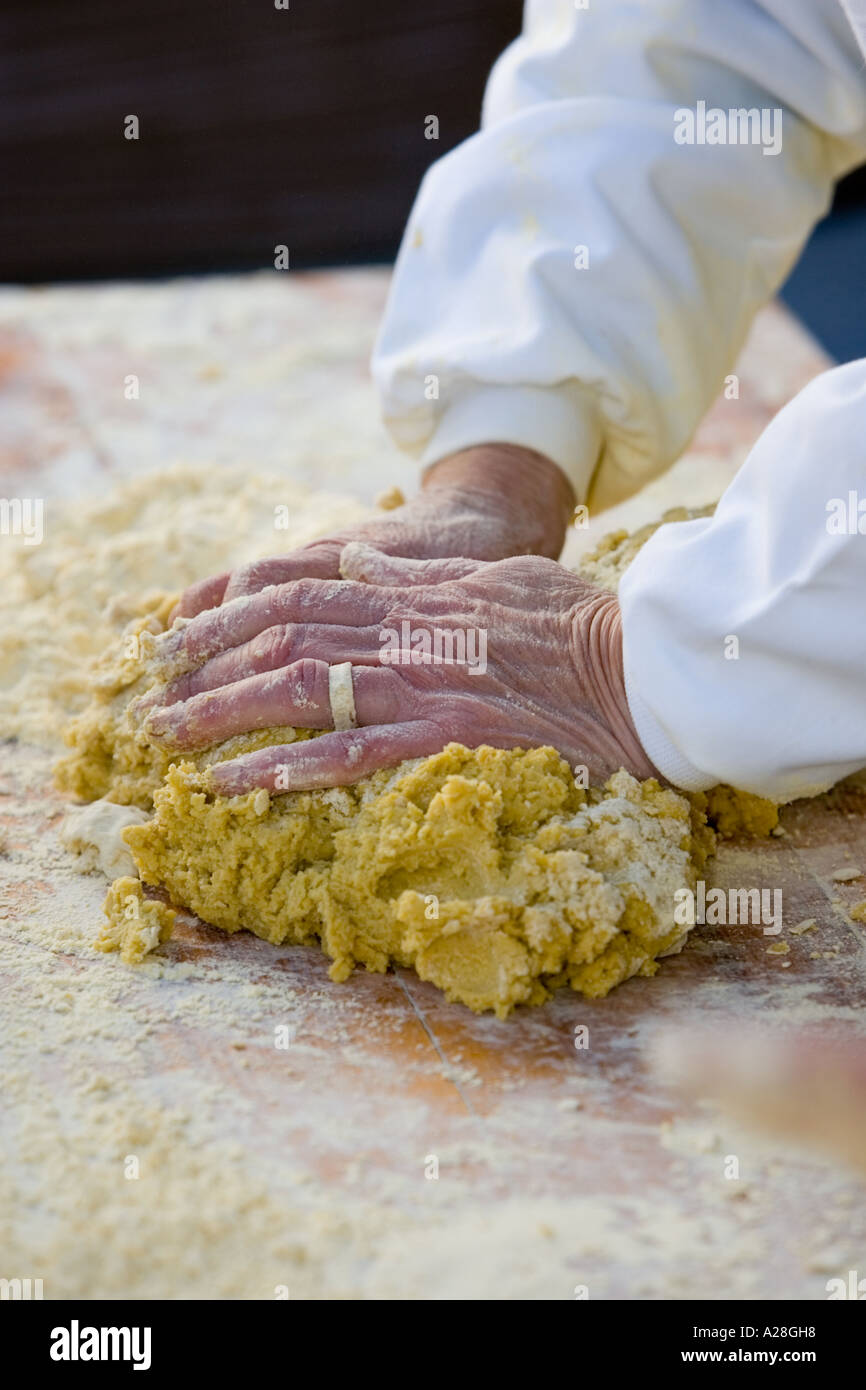
[[[353,541],[417,560],[530,553],[555,559],[573,507],[571,488],[549,459],[514,445],[480,445],[442,459],[428,470],[424,489],[393,512],[193,584],[171,616],[195,617],[271,584],[336,580],[341,553]]]

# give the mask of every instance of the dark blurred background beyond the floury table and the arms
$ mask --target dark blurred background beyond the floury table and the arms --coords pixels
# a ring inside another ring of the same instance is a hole
[[[4,0],[0,278],[253,268],[278,243],[296,268],[391,260],[520,15],[520,0]],[[841,359],[866,353],[863,252],[860,171],[785,289]]]

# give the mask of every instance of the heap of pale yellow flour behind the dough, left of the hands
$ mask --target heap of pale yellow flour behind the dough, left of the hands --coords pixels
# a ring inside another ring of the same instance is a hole
[[[42,545],[0,545],[0,737],[58,745],[88,702],[92,659],[129,619],[203,575],[367,514],[353,498],[203,464],[128,480],[95,502],[49,500]]]

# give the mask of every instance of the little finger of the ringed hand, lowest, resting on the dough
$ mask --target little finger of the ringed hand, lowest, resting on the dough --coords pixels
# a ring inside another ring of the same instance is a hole
[[[257,753],[217,763],[210,770],[211,785],[224,796],[236,796],[267,787],[270,791],[313,791],[317,787],[348,787],[379,767],[393,767],[405,758],[427,758],[449,741],[431,720],[379,724],[322,734],[303,744],[263,748]]]

